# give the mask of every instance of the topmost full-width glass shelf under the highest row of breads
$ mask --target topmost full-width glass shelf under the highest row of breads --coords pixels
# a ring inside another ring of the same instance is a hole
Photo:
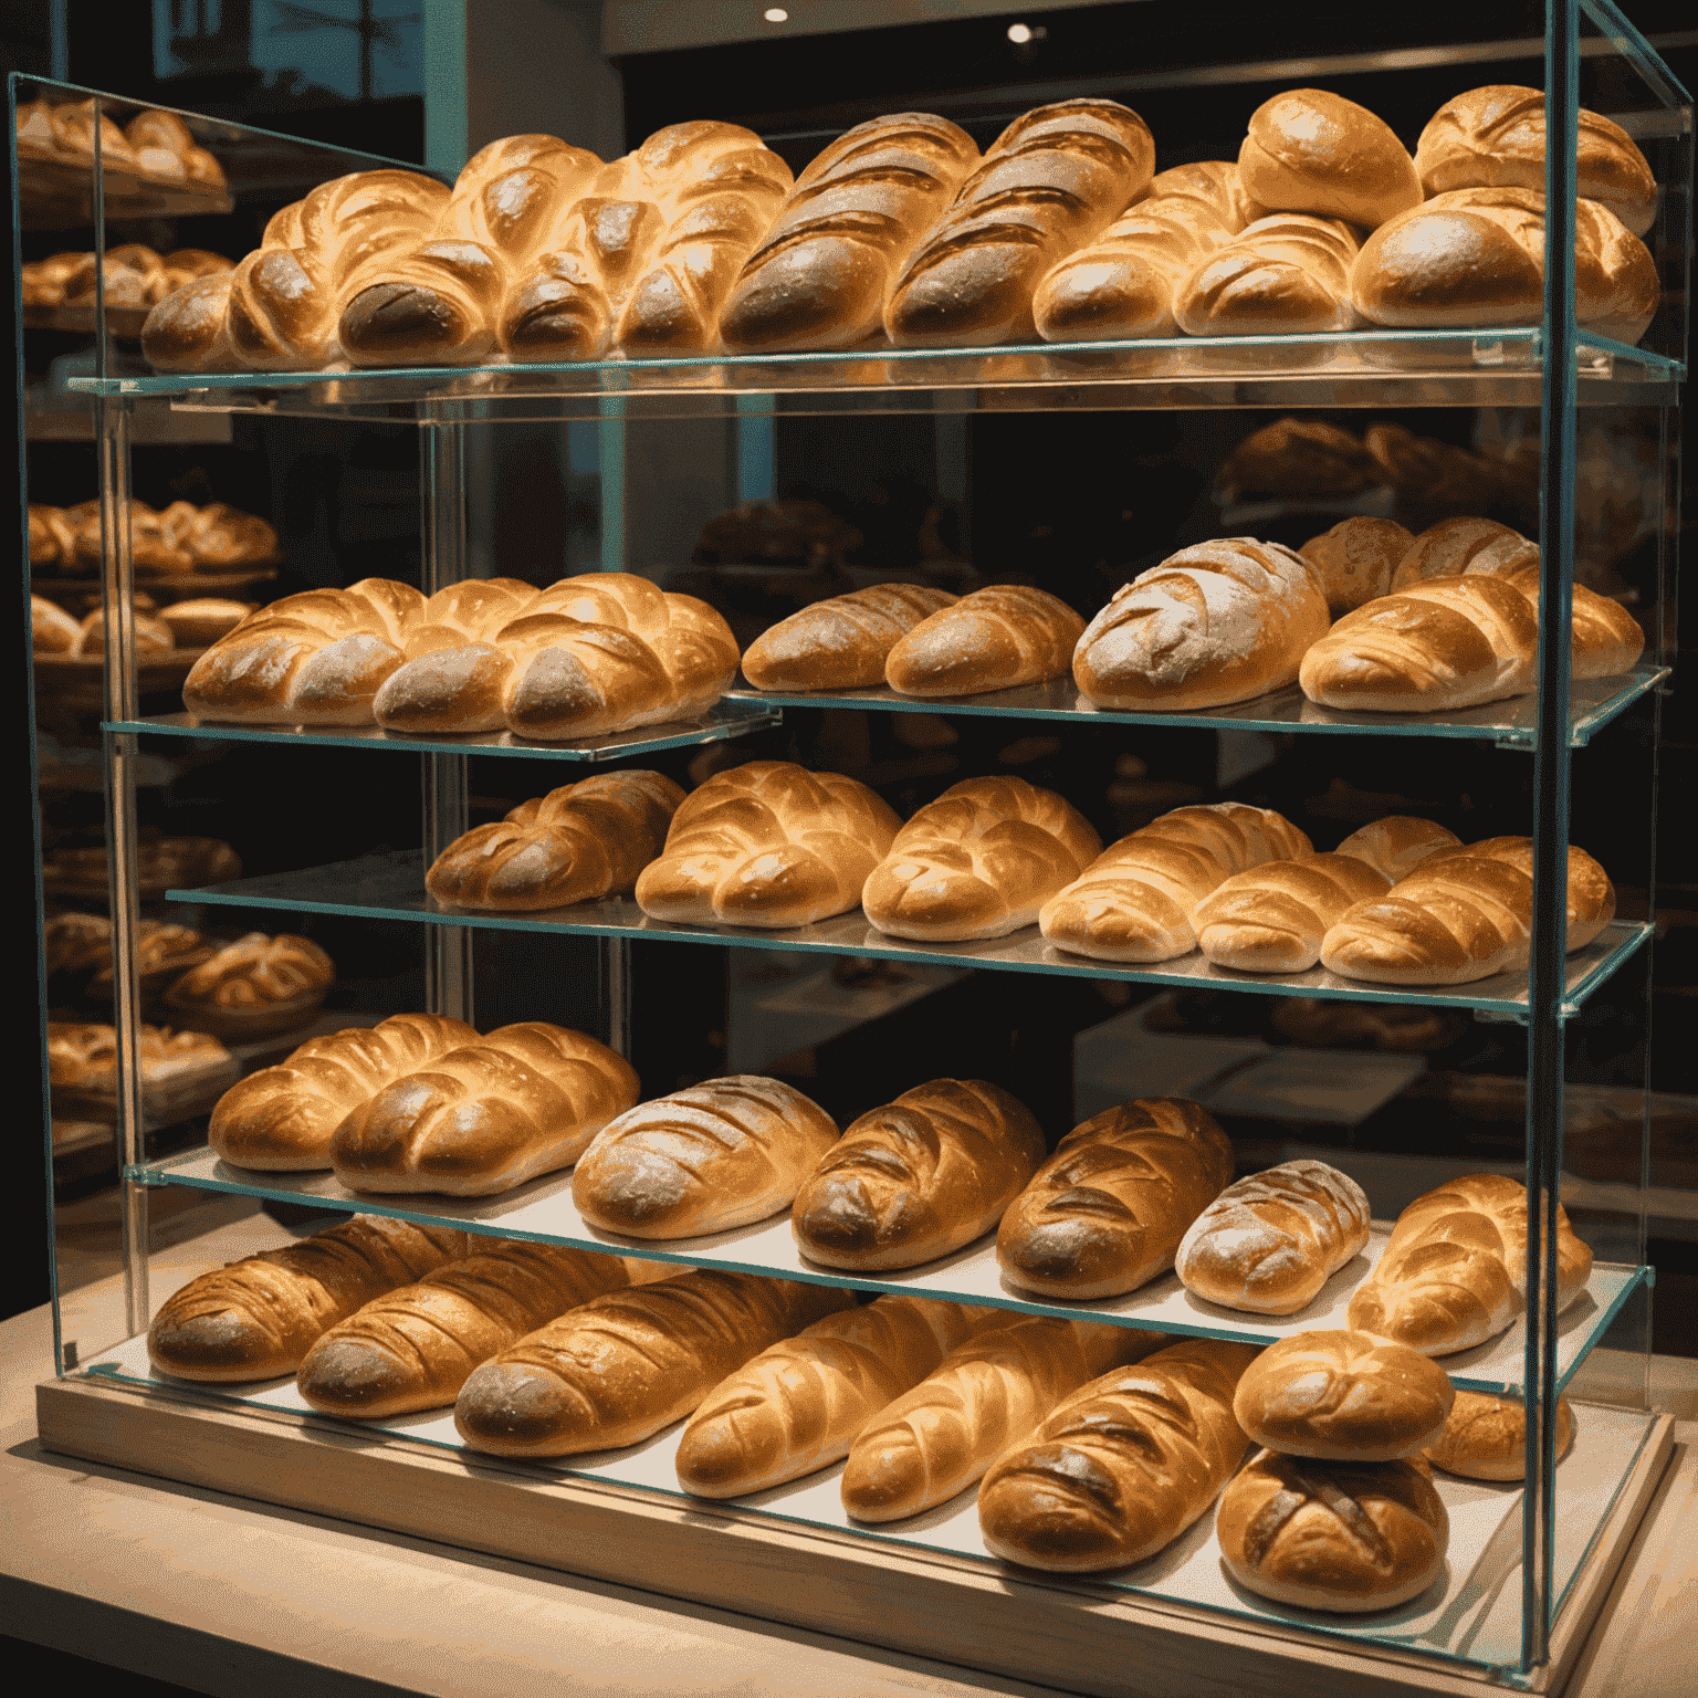
[[[1579,341],[1581,406],[1676,399],[1678,360],[1600,336]],[[1330,336],[1180,336],[694,355],[562,365],[340,372],[173,372],[73,379],[83,394],[170,399],[217,413],[343,413],[421,423],[717,418],[1109,408],[1538,406],[1540,331],[1367,329]]]

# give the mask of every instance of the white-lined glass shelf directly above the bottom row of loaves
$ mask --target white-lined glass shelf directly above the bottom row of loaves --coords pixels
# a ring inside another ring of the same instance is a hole
[[[1350,1296],[1369,1277],[1386,1251],[1391,1234],[1387,1223],[1375,1223],[1367,1250],[1340,1268],[1321,1294],[1297,1314],[1240,1314],[1192,1297],[1177,1275],[1168,1275],[1124,1297],[1094,1302],[1061,1302],[1022,1292],[1002,1279],[997,1267],[995,1234],[987,1234],[954,1255],[919,1268],[864,1274],[815,1267],[796,1250],[790,1231],[790,1214],[756,1221],[727,1233],[701,1238],[655,1241],[625,1238],[591,1226],[572,1202],[572,1175],[548,1173],[499,1197],[421,1197],[365,1195],[350,1190],[331,1173],[256,1173],[221,1161],[212,1150],[190,1150],[163,1161],[129,1168],[129,1177],[144,1185],[194,1185],[243,1197],[272,1197],[285,1202],[319,1204],[350,1214],[385,1214],[399,1221],[464,1226],[467,1231],[496,1238],[528,1238],[577,1250],[610,1250],[645,1262],[676,1262],[684,1267],[718,1267],[735,1274],[766,1274],[803,1280],[812,1285],[839,1285],[851,1290],[910,1292],[946,1297],[978,1307],[1012,1309],[1020,1314],[1049,1314],[1061,1319],[1110,1321],[1158,1333],[1184,1333],[1199,1338],[1236,1338],[1251,1345],[1270,1345],[1277,1338],[1309,1328],[1345,1324]],[[1603,1338],[1610,1323],[1649,1277],[1649,1268],[1596,1263],[1591,1282],[1579,1299],[1557,1318],[1559,1389],[1566,1386],[1588,1352]],[[1440,1367],[1457,1386],[1469,1391],[1520,1394],[1527,1362],[1527,1330],[1516,1321],[1498,1338],[1440,1357]]]

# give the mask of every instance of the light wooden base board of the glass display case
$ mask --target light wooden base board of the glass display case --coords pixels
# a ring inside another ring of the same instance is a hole
[[[727,1504],[545,1479],[498,1459],[372,1445],[282,1413],[75,1377],[37,1386],[36,1411],[42,1445],[88,1462],[1100,1698],[1297,1690],[1306,1698],[1481,1698],[1501,1684],[1489,1671],[1394,1647],[1129,1600],[1088,1581],[1014,1576],[964,1557],[776,1525]],[[1576,1576],[1550,1664],[1527,1690],[1560,1691],[1667,1465],[1673,1425],[1656,1418]]]

